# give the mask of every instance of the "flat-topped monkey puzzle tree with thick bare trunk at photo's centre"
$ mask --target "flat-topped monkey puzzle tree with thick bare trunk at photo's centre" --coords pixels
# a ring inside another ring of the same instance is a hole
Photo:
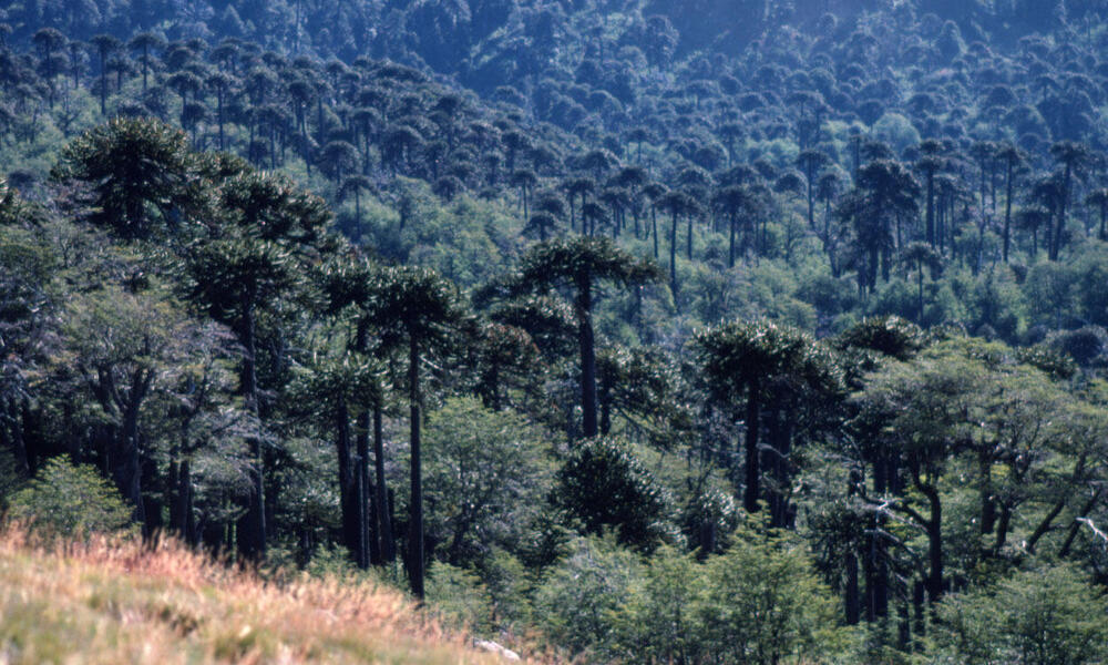
[[[520,286],[547,291],[573,291],[581,351],[582,433],[595,437],[598,429],[596,402],[596,341],[593,334],[593,295],[601,280],[628,287],[654,282],[660,276],[649,260],[627,254],[607,239],[577,236],[532,246],[520,258]]]

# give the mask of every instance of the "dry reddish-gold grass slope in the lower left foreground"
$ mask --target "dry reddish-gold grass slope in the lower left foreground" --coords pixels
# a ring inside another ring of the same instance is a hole
[[[27,663],[499,663],[396,591],[281,585],[173,541],[29,542],[0,534],[0,665]]]

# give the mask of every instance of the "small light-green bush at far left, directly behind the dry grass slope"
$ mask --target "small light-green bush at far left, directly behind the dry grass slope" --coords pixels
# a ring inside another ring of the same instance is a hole
[[[52,458],[8,500],[9,515],[48,535],[86,538],[132,530],[131,509],[95,469]]]

